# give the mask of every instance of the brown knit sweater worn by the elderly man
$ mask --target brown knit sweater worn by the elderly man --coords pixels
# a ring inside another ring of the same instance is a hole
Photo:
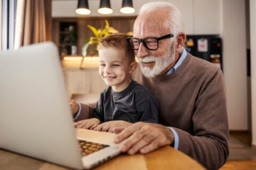
[[[225,83],[218,67],[188,54],[170,75],[145,78],[137,69],[134,80],[155,95],[159,123],[178,133],[179,150],[207,169],[226,163],[228,118]],[[82,105],[81,115],[86,109]]]

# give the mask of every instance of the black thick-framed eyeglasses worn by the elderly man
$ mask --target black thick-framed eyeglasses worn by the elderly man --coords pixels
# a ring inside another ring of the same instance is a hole
[[[139,49],[140,43],[143,43],[143,45],[149,50],[157,50],[159,40],[166,39],[166,38],[172,38],[172,37],[173,37],[173,34],[171,33],[171,34],[167,34],[165,36],[159,37],[159,38],[148,37],[148,38],[139,39],[139,38],[129,37],[129,38],[126,38],[126,40],[128,41],[129,45],[134,50]]]

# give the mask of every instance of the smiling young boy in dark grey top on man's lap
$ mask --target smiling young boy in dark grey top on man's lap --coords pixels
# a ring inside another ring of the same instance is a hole
[[[138,63],[127,37],[115,33],[99,41],[99,74],[108,87],[95,104],[94,118],[77,122],[77,128],[112,132],[115,127],[127,127],[139,121],[158,123],[157,100],[131,80]]]

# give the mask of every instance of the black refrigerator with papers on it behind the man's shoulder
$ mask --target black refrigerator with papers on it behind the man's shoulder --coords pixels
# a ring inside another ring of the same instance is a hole
[[[219,35],[187,35],[185,48],[190,54],[222,69],[222,41]]]

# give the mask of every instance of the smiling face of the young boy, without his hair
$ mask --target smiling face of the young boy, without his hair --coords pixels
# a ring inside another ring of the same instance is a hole
[[[130,66],[125,51],[120,48],[107,47],[99,49],[99,74],[107,86],[111,86],[114,91],[124,90],[130,80]]]

